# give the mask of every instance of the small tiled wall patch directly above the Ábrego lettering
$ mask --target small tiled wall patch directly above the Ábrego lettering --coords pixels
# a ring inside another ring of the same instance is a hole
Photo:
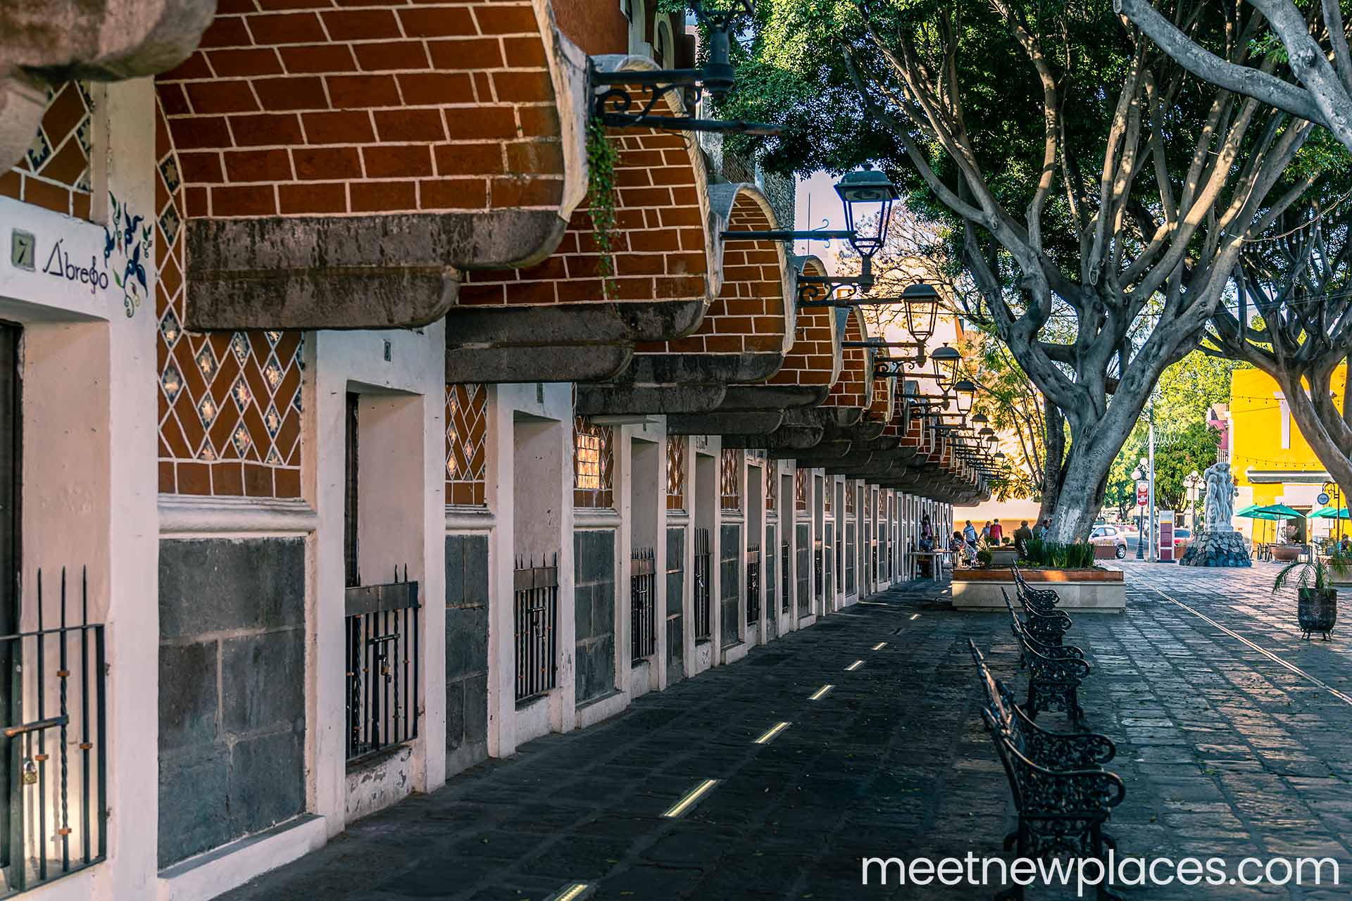
[[[76,81],[47,89],[47,111],[18,166],[0,174],[0,196],[89,219],[93,100]]]

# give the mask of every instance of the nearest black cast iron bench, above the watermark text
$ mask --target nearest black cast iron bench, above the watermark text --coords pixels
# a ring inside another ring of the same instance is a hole
[[[986,689],[982,721],[1005,766],[1018,812],[1018,825],[1005,838],[1005,850],[1021,858],[1068,855],[1106,860],[1117,843],[1103,832],[1103,824],[1126,797],[1121,777],[1102,766],[1113,759],[1117,747],[1103,735],[1040,728],[991,677],[971,639],[968,647]],[[1023,886],[1013,885],[995,897],[1022,898]],[[1118,896],[1099,885],[1098,897]]]

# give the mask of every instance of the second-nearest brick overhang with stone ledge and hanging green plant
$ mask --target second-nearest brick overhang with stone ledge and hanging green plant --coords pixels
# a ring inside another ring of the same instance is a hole
[[[592,61],[604,72],[654,68],[646,57]],[[653,112],[684,115],[671,95]],[[719,267],[699,146],[654,128],[607,128],[606,140],[615,151],[614,276],[602,274],[583,201],[548,259],[466,278],[448,319],[448,380],[487,370],[498,381],[603,381],[629,365],[637,343],[683,338],[700,326],[719,290]],[[588,357],[572,350],[579,347],[595,350]],[[565,369],[542,371],[546,358]]]

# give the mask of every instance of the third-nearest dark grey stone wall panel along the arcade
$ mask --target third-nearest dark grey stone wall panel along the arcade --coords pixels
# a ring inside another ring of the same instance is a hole
[[[615,530],[573,532],[575,697],[615,689]]]

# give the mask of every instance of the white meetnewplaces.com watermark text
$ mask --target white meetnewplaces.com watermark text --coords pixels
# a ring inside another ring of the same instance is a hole
[[[1242,858],[1233,869],[1225,858],[1075,858],[1034,860],[1030,858],[863,858],[863,883],[900,885],[1061,885],[1086,889],[1106,886],[1161,885],[1341,885],[1338,862],[1333,858]],[[876,882],[871,882],[873,878]]]

